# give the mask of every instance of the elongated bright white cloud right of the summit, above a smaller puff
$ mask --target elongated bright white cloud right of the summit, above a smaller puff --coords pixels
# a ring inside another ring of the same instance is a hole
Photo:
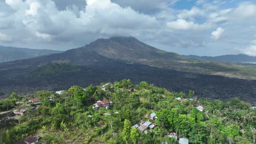
[[[175,30],[203,30],[210,27],[207,24],[195,24],[194,22],[189,22],[185,19],[177,19],[176,21],[167,22],[167,26]]]

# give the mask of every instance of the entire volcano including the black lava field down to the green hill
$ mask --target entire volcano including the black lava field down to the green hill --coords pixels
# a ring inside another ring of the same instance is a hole
[[[15,91],[58,91],[70,86],[98,85],[131,79],[147,81],[170,91],[201,92],[198,96],[229,99],[233,96],[255,102],[256,80],[225,76],[248,76],[253,66],[186,58],[149,46],[134,37],[98,39],[63,53],[0,63],[0,96]],[[196,73],[194,73],[196,72]],[[255,73],[253,71],[252,75]],[[201,74],[203,73],[203,74]]]

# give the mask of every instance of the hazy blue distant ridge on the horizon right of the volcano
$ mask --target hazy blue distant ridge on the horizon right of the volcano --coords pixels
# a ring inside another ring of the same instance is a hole
[[[188,58],[206,59],[211,61],[226,61],[226,62],[256,62],[256,56],[249,56],[244,54],[238,55],[221,55],[221,56],[197,56],[188,55]]]

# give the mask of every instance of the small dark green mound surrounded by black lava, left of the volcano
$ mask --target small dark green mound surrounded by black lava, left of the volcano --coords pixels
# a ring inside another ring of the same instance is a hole
[[[43,65],[31,71],[30,76],[55,76],[63,72],[78,71],[79,68],[69,64],[53,63],[49,65]]]

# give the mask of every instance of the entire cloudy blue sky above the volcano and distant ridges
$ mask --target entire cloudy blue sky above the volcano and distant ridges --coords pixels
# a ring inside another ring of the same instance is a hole
[[[256,56],[255,0],[2,0],[0,45],[67,50],[134,36],[182,55]]]

